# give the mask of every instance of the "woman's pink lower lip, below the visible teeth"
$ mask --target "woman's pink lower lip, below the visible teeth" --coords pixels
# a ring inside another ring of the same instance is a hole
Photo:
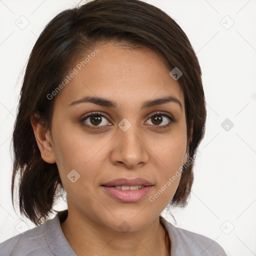
[[[113,186],[102,185],[103,190],[112,198],[121,202],[137,202],[145,197],[153,185],[144,186],[136,190],[122,190]]]

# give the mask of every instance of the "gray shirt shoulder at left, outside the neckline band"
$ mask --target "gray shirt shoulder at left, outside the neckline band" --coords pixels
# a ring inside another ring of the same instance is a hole
[[[45,223],[0,243],[0,256],[53,255],[45,237]]]

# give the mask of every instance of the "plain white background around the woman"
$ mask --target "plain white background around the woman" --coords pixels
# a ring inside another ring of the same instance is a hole
[[[10,194],[10,142],[22,70],[46,23],[78,2],[0,0],[0,242],[18,234],[17,225],[34,227],[27,219],[20,223]],[[146,2],[168,13],[188,36],[207,102],[190,201],[172,211],[176,225],[216,240],[227,255],[256,255],[256,0]],[[23,25],[29,22],[24,29],[16,25],[21,18]],[[221,126],[226,118],[234,124],[228,130]],[[65,208],[63,202],[55,207]]]

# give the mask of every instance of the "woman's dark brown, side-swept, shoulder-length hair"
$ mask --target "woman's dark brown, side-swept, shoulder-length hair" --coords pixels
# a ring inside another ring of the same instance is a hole
[[[13,130],[14,163],[11,182],[20,174],[19,210],[36,225],[43,223],[58,192],[64,191],[56,163],[41,158],[30,116],[50,129],[53,102],[47,98],[68,73],[70,66],[98,42],[124,42],[157,51],[170,69],[178,67],[184,92],[188,159],[204,135],[206,118],[201,69],[194,50],[179,25],[159,8],[140,0],[93,0],[57,14],[38,37],[27,62]],[[183,166],[184,167],[184,166]],[[193,163],[183,168],[180,183],[169,206],[184,206],[190,193]],[[55,211],[56,212],[56,211]]]

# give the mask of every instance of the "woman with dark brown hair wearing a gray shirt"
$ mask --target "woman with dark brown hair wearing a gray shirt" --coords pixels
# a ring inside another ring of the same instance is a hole
[[[13,131],[19,209],[36,225],[0,255],[226,255],[160,213],[185,206],[206,118],[177,23],[139,0],[55,16],[27,63]],[[66,192],[67,208],[53,219]]]

